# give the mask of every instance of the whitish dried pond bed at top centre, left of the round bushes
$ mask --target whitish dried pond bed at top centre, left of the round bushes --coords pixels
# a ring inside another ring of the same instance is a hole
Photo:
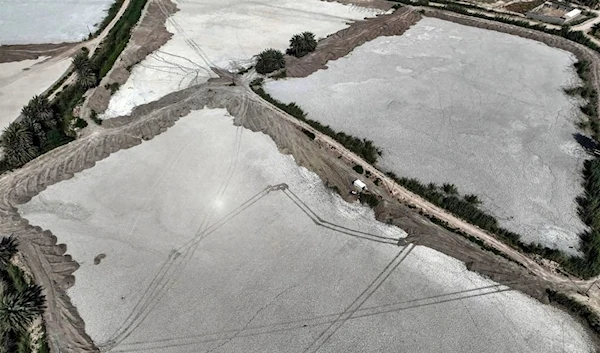
[[[104,118],[215,77],[211,67],[237,71],[267,48],[285,50],[292,35],[324,37],[382,12],[320,0],[186,0],[167,20],[173,37],[133,68],[115,93]]]

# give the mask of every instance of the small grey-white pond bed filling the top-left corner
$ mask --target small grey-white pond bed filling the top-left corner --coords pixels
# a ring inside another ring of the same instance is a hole
[[[112,3],[113,0],[3,1],[0,44],[80,41],[95,31]]]

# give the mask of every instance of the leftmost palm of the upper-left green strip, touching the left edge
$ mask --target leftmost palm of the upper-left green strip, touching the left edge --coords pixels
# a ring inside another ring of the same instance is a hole
[[[0,147],[4,151],[4,160],[11,167],[20,167],[39,155],[29,129],[16,121],[4,129],[0,136]]]

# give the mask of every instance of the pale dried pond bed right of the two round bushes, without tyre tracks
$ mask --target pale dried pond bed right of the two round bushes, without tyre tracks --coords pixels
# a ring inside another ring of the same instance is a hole
[[[574,57],[516,36],[425,18],[307,78],[269,82],[309,118],[373,140],[380,165],[474,193],[501,224],[574,252],[584,154],[562,88]],[[348,99],[352,97],[352,99]]]

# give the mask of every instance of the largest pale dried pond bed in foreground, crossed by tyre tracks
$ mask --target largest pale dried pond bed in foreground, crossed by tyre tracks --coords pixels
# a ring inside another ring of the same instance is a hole
[[[68,294],[105,352],[592,349],[564,312],[404,245],[224,110],[192,111],[19,212],[81,264]]]

